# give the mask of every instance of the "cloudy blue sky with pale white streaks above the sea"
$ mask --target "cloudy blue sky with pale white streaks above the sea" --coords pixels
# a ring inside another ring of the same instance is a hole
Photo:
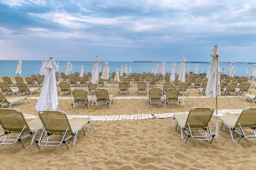
[[[253,0],[1,0],[0,60],[256,62]]]

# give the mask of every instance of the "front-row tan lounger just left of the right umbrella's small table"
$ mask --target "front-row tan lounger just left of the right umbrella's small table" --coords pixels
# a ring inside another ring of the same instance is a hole
[[[172,117],[172,126],[175,131],[177,131],[178,125],[181,130],[181,140],[185,142],[188,141],[188,138],[194,140],[206,140],[209,143],[212,143],[214,134],[212,134],[210,129],[210,120],[214,112],[213,108],[209,107],[193,107],[189,110],[188,115],[173,115]],[[177,121],[176,129],[174,127],[174,119]],[[208,127],[208,130],[207,130]],[[197,131],[196,135],[192,134],[192,131]],[[204,135],[198,134],[198,130],[203,130]],[[187,134],[187,138],[183,140],[183,132]]]

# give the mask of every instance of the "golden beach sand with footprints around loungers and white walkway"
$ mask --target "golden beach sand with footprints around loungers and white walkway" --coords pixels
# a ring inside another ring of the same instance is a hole
[[[0,79],[1,80],[1,79]],[[129,95],[137,96],[136,83]],[[115,84],[111,93],[116,93]],[[157,84],[163,86],[163,83]],[[84,87],[83,87],[84,88]],[[84,88],[86,89],[86,88]],[[256,94],[256,90],[251,90]],[[215,99],[199,98],[196,90],[189,89],[184,106],[147,106],[147,99],[116,99],[108,106],[71,108],[71,99],[59,100],[58,110],[68,115],[132,115],[189,111],[191,107],[213,107]],[[39,96],[39,94],[32,94]],[[67,96],[69,95],[62,95]],[[146,95],[139,95],[146,96]],[[229,95],[228,95],[229,96]],[[233,96],[233,95],[230,95]],[[28,99],[27,104],[13,104],[27,114],[36,114],[37,100]],[[219,98],[218,109],[244,109],[255,107],[242,98]],[[215,121],[210,122],[215,133]],[[3,130],[1,129],[1,132]],[[39,137],[39,134],[36,138]],[[234,135],[237,139],[239,136]],[[25,140],[29,142],[29,139]],[[70,142],[72,142],[71,138]],[[113,122],[92,122],[90,133],[80,132],[76,145],[45,147],[38,150],[36,144],[24,149],[20,143],[0,147],[1,169],[252,169],[255,166],[256,141],[242,138],[239,144],[231,140],[229,130],[219,130],[212,144],[188,139],[181,141],[180,129],[174,131],[172,119],[149,119]]]

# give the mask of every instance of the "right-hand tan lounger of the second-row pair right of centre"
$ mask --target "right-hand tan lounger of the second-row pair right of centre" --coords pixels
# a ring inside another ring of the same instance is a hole
[[[180,106],[178,88],[166,89],[166,94],[164,95],[164,105],[166,106],[166,104],[178,104],[178,106]]]

